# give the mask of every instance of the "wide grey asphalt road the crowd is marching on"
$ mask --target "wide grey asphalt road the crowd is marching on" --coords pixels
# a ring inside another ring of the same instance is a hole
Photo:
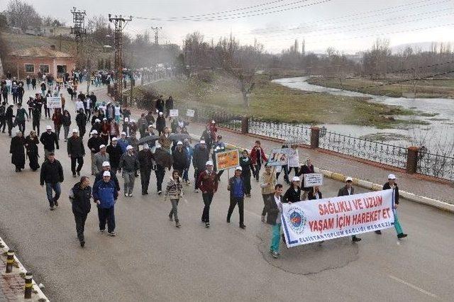
[[[26,133],[30,129],[28,123]],[[381,236],[361,235],[358,244],[341,238],[282,247],[281,257],[272,259],[267,254],[270,228],[260,222],[257,183],[253,198],[245,201],[246,230],[238,228],[238,211],[226,223],[226,174],[211,207],[211,228],[200,223],[201,194],[185,187],[178,229],[167,218],[170,202],[155,193],[152,174],[150,195],[140,195],[136,179],[133,198],[118,198],[117,237],[98,233],[92,208],[82,249],[67,198],[77,179],[70,172],[65,142],[60,140],[57,150],[65,169],[57,211],[49,211],[39,172],[14,172],[9,142],[0,135],[0,235],[52,301],[452,301],[450,213],[402,200],[399,220],[409,233],[404,240],[389,229]],[[89,174],[89,155],[85,160],[82,173]],[[165,180],[169,176],[167,172]],[[323,196],[335,196],[340,186],[326,179]]]

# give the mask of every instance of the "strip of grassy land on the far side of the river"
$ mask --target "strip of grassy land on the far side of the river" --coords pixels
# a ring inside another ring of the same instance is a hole
[[[394,82],[395,81],[396,80],[394,80]],[[370,79],[324,79],[323,77],[311,77],[308,82],[319,86],[358,91],[365,94],[380,96],[412,97],[415,90],[413,82],[377,86],[386,82],[378,82]],[[393,81],[389,80],[389,82]],[[454,79],[418,81],[416,82],[416,97],[454,99]]]

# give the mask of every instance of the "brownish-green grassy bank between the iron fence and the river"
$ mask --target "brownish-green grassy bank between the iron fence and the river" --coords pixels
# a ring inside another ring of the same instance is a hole
[[[373,104],[366,98],[304,93],[270,82],[267,77],[258,79],[250,96],[249,108],[244,108],[236,83],[226,77],[217,77],[211,84],[196,79],[166,79],[150,84],[150,87],[158,94],[172,95],[177,102],[194,108],[205,106],[289,123],[342,123],[392,128],[406,122],[389,116],[414,114],[414,111],[394,106]]]

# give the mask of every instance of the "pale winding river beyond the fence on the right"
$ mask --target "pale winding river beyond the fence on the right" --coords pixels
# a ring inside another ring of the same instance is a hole
[[[308,77],[275,79],[273,82],[302,91],[323,92],[337,96],[363,96],[370,101],[390,106],[401,106],[421,113],[435,113],[436,116],[396,116],[399,119],[426,121],[429,125],[402,124],[395,128],[379,129],[373,126],[325,124],[327,130],[345,135],[386,141],[408,147],[424,145],[430,152],[448,152],[453,155],[454,145],[454,99],[406,99],[388,96],[374,96],[360,92],[317,86],[306,82]]]

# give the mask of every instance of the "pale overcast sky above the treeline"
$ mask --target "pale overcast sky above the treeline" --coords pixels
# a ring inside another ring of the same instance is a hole
[[[70,1],[26,0],[38,13],[72,25]],[[0,1],[4,10],[6,0]],[[280,52],[297,38],[306,51],[333,46],[353,53],[377,38],[391,45],[454,40],[454,0],[77,0],[87,18],[108,13],[133,16],[126,33],[162,26],[160,43],[182,44],[196,30],[205,40],[233,33],[241,43],[257,39],[269,52]],[[204,15],[204,16],[200,16]],[[253,16],[255,15],[255,16]],[[195,17],[194,17],[195,16]],[[134,17],[155,18],[145,20]],[[183,18],[179,18],[183,17]],[[209,19],[209,20],[206,20]],[[194,21],[196,20],[196,21]]]

